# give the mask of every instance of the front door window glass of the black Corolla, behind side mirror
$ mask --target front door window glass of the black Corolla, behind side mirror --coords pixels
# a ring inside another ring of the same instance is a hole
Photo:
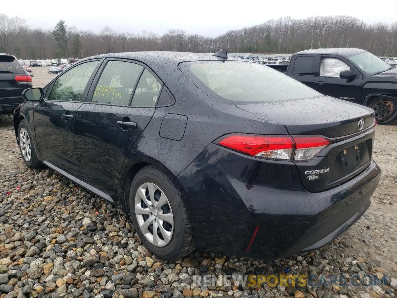
[[[48,100],[84,101],[84,89],[99,61],[86,62],[68,70],[54,82]]]

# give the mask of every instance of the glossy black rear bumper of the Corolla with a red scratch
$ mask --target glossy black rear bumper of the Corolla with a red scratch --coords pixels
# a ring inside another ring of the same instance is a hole
[[[380,180],[372,161],[348,182],[310,193],[296,166],[277,168],[211,144],[177,176],[198,250],[259,259],[314,250],[361,217]]]

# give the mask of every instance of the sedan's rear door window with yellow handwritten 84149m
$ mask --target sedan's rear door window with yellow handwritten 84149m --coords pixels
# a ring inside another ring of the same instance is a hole
[[[131,62],[109,61],[96,84],[92,102],[127,106],[142,68]]]

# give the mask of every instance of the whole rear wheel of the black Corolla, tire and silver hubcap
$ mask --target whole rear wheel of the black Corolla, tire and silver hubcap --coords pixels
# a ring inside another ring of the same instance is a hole
[[[141,242],[157,257],[175,260],[193,251],[185,204],[170,178],[158,168],[146,166],[135,175],[129,211]]]

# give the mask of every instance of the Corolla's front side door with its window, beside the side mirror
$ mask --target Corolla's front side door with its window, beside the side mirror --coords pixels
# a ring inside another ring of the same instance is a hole
[[[73,141],[76,112],[87,97],[100,60],[76,65],[47,86],[42,104],[34,110],[37,147],[41,156],[71,174],[79,161]]]

